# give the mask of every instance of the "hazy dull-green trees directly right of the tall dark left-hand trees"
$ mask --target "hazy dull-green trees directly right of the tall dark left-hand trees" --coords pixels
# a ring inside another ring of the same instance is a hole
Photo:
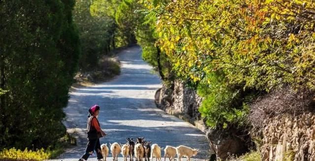
[[[79,68],[91,71],[97,68],[99,59],[115,49],[115,20],[110,17],[92,16],[90,0],[76,0],[73,20],[78,28],[82,55]]]

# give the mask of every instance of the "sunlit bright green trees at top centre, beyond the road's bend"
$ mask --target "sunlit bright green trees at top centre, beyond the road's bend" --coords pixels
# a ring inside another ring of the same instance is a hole
[[[146,9],[137,0],[94,0],[91,5],[92,15],[115,20],[115,41],[117,46],[138,43],[142,47],[142,57],[155,67],[162,80],[171,83],[173,74],[165,52],[156,41],[158,35],[152,17],[146,16]],[[145,13],[145,14],[143,14]],[[154,17],[153,17],[154,18]]]

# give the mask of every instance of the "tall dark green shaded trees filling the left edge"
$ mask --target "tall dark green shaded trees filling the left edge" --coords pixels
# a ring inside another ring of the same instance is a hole
[[[79,58],[74,0],[0,0],[0,148],[47,147]],[[4,94],[3,94],[4,93]]]

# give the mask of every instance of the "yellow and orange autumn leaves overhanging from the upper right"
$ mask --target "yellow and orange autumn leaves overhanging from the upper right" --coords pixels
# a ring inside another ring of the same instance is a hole
[[[222,70],[229,83],[269,89],[295,80],[292,57],[301,55],[299,46],[309,37],[315,39],[312,0],[177,0],[157,6],[158,42],[176,72],[191,80]]]

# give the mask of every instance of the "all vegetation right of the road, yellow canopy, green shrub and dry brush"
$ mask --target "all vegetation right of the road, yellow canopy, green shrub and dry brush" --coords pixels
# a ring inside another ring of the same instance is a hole
[[[308,103],[315,96],[314,1],[133,2],[141,4],[135,12],[144,15],[140,20],[146,27],[140,31],[146,36],[139,39],[151,38],[139,43],[147,50],[144,59],[162,71],[170,88],[178,79],[204,98],[199,112],[208,128],[232,131],[255,150],[265,119],[310,111]],[[168,65],[160,68],[157,60]],[[290,104],[288,98],[298,101]],[[283,104],[273,104],[276,100]]]

